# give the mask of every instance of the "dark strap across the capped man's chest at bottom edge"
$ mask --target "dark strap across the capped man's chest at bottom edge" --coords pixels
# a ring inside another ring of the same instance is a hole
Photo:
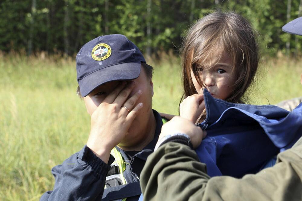
[[[127,183],[124,185],[104,189],[102,201],[123,199],[140,195],[140,182]]]

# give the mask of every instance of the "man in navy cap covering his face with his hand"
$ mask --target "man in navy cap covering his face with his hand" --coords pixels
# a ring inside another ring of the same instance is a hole
[[[139,177],[163,121],[152,110],[153,68],[120,34],[97,37],[76,56],[80,95],[91,115],[84,148],[52,169],[40,200],[137,200]]]

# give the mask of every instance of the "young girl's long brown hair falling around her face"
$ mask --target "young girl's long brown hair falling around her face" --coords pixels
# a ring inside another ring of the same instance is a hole
[[[226,101],[244,103],[243,94],[251,85],[259,62],[259,47],[252,26],[234,12],[217,11],[198,20],[188,30],[181,49],[184,94],[180,102],[196,94],[191,71],[204,86],[196,66],[214,66],[224,54],[232,61],[236,81]],[[205,111],[200,120],[204,120]],[[200,122],[199,120],[199,122]]]

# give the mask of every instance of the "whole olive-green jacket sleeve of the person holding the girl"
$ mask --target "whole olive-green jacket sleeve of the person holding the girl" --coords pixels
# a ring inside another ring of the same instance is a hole
[[[140,174],[144,200],[302,200],[302,145],[280,153],[274,167],[242,179],[206,172],[191,148],[166,143]]]

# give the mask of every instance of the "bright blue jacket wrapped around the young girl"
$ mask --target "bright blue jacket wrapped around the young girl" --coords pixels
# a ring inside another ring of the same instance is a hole
[[[207,137],[196,152],[213,176],[257,173],[302,136],[302,104],[289,112],[273,105],[233,104],[204,91]]]

